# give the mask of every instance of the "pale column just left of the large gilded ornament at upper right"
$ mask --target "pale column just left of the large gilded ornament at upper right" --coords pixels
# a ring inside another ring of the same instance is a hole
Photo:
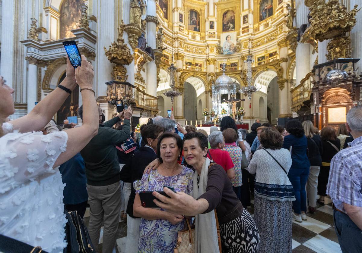
[[[304,4],[304,0],[295,1],[296,9],[296,27],[308,23],[309,8]],[[309,44],[299,43],[295,51],[296,59],[296,86],[310,72],[310,55]]]

